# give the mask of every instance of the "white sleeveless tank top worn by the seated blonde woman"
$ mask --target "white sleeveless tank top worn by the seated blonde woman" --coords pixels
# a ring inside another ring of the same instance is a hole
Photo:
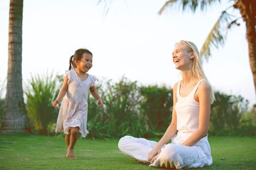
[[[181,97],[181,81],[178,81],[176,92],[177,102],[175,106],[178,134],[183,132],[191,133],[198,129],[199,103],[195,100],[194,96],[201,81],[203,81],[203,79],[198,81],[194,89],[186,97]]]

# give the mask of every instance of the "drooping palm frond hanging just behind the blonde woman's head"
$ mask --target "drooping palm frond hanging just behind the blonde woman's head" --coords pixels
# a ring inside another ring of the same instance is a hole
[[[228,14],[226,11],[223,11],[220,15],[220,18],[218,18],[218,21],[214,24],[213,28],[208,34],[208,37],[203,43],[203,47],[200,50],[201,57],[205,57],[206,60],[208,60],[208,57],[211,55],[210,49],[212,46],[218,48],[224,45],[229,21],[230,14]]]

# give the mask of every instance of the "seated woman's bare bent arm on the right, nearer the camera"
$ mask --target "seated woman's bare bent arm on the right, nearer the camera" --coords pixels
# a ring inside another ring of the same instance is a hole
[[[201,140],[208,134],[210,124],[210,86],[208,86],[206,81],[202,81],[198,86],[195,99],[199,101],[198,130],[193,132],[181,145],[193,146],[198,140]]]

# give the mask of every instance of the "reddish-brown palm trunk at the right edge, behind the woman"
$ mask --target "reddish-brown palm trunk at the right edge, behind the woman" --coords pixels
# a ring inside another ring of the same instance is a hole
[[[250,68],[252,70],[256,94],[256,1],[240,0],[235,7],[240,10],[242,19],[246,23]]]

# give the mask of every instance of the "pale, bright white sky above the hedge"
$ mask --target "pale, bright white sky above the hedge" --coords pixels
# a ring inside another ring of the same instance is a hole
[[[221,11],[232,4],[215,4],[196,13],[176,7],[160,16],[165,1],[24,0],[23,84],[36,74],[65,74],[70,56],[83,47],[93,54],[88,73],[98,79],[127,77],[141,85],[174,86],[180,79],[171,55],[175,42],[189,40],[200,50]],[[230,13],[239,16],[238,11]],[[223,47],[213,48],[203,69],[215,91],[241,95],[252,106],[256,97],[245,23],[239,23],[228,30]],[[8,29],[9,1],[0,0],[1,86],[7,77]]]

